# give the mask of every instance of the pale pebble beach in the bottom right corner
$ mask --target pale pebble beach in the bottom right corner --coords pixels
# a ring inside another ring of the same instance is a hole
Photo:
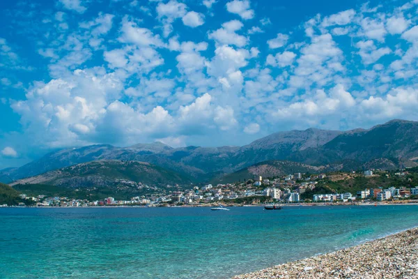
[[[352,248],[233,277],[244,278],[418,278],[418,227]]]

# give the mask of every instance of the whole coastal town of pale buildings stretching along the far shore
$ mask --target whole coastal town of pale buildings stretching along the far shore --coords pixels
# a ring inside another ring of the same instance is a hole
[[[405,176],[408,172],[396,172],[396,176]],[[415,199],[418,197],[418,187],[375,187],[364,188],[356,193],[316,193],[319,185],[323,185],[325,179],[341,179],[348,174],[315,174],[302,173],[287,174],[285,176],[263,178],[254,176],[240,183],[218,183],[217,185],[206,184],[192,186],[181,190],[180,186],[167,186],[163,193],[151,193],[134,196],[130,199],[116,199],[106,197],[99,200],[74,199],[63,196],[49,197],[47,195],[29,196],[24,193],[20,197],[31,201],[31,206],[210,206],[220,203],[229,206],[259,205],[263,203],[279,204],[354,204],[362,202],[387,202]],[[367,170],[362,174],[350,175],[373,177],[373,170]],[[386,174],[387,175],[387,174]],[[139,188],[157,190],[155,187],[146,186],[134,181],[121,181],[130,183]],[[3,204],[0,206],[7,206]],[[20,203],[19,206],[25,206]]]

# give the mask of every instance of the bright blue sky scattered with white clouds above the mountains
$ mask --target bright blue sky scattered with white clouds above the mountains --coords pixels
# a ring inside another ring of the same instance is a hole
[[[0,3],[0,169],[418,120],[418,0]]]

